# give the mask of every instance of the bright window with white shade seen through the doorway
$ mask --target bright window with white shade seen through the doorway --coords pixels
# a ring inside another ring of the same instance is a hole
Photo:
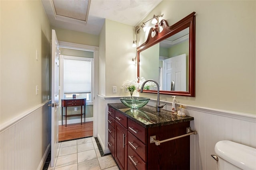
[[[93,59],[64,56],[64,98],[86,98],[93,102]]]

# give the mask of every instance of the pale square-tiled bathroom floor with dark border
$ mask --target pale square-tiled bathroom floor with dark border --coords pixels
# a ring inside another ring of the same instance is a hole
[[[119,170],[111,154],[104,155],[98,139],[88,137],[60,142],[54,167],[48,170]]]

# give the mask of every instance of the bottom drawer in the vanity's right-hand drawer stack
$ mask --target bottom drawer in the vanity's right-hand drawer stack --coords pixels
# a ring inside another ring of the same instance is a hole
[[[128,146],[128,164],[132,163],[137,170],[146,170],[146,163],[134,152],[133,149],[131,149],[130,146]]]

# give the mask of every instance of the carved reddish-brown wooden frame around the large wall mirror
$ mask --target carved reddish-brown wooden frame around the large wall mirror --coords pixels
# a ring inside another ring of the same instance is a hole
[[[155,28],[151,28],[148,33],[146,42],[137,48],[137,77],[140,77],[140,52],[152,47],[153,45],[160,43],[164,39],[186,29],[189,27],[189,59],[188,59],[188,91],[165,91],[160,90],[160,94],[170,94],[176,96],[195,96],[195,14],[192,12],[182,20],[169,26],[166,20],[161,20],[159,27],[162,27],[162,31],[158,32],[158,25]],[[156,35],[152,37],[152,32],[157,31]],[[157,93],[156,90],[143,90],[143,92]]]

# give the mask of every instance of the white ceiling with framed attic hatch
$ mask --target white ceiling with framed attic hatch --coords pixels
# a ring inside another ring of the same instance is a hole
[[[98,35],[105,19],[136,26],[161,1],[42,0],[42,4],[51,25]]]

